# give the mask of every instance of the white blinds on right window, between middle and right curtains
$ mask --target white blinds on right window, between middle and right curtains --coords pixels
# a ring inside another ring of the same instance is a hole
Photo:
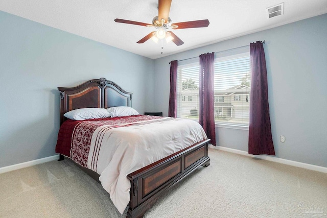
[[[215,96],[224,102],[215,102],[217,123],[249,124],[250,56],[240,54],[216,59]]]

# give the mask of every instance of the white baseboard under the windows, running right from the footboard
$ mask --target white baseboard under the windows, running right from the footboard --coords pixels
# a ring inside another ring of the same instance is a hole
[[[277,162],[277,163],[284,163],[287,165],[301,167],[301,168],[305,168],[305,169],[311,169],[312,171],[318,171],[321,173],[327,173],[327,167],[323,167],[323,166],[317,166],[317,165],[308,164],[308,163],[301,163],[301,162],[297,162],[297,161],[293,161],[293,160],[286,160],[286,159],[269,156],[269,155],[252,155],[252,154],[248,154],[245,151],[241,151],[241,150],[237,150],[237,149],[230,149],[230,148],[221,147],[221,146],[209,145],[209,148],[218,149],[218,150],[231,152],[231,153],[236,153],[236,154],[240,154],[240,155],[246,155],[249,157],[256,157],[256,158],[260,158],[263,160],[269,160],[269,161],[273,161],[273,162]]]

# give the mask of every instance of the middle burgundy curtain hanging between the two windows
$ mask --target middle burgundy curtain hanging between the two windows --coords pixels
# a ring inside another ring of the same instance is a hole
[[[199,124],[203,127],[211,143],[216,146],[214,110],[214,63],[215,53],[200,55],[200,102]]]

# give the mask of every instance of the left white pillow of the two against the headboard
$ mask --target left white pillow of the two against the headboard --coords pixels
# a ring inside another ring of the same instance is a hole
[[[110,117],[109,112],[105,108],[81,108],[68,111],[64,114],[68,119],[83,120]]]

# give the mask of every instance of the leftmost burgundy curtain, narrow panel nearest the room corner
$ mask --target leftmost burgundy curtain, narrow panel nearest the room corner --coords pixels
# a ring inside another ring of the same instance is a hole
[[[170,93],[168,116],[177,116],[177,99],[176,99],[176,83],[177,83],[177,61],[170,62]]]

